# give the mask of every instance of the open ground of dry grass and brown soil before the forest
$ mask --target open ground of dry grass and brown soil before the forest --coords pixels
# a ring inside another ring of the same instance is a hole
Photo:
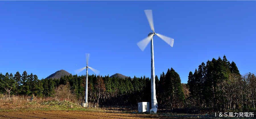
[[[0,94],[0,119],[166,119],[166,118],[216,118],[210,111],[191,109],[158,110],[157,114],[138,113],[136,106],[99,106],[89,104],[81,107],[75,101],[29,96],[8,96]],[[193,114],[197,111],[197,114]],[[207,115],[205,113],[208,113]]]

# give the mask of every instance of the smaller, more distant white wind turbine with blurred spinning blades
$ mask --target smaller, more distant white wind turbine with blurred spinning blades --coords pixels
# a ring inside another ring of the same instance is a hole
[[[84,69],[86,69],[86,88],[85,88],[85,105],[88,105],[88,68],[90,68],[96,75],[98,75],[100,73],[100,71],[93,69],[92,67],[88,67],[88,62],[89,62],[89,58],[90,58],[90,54],[86,53],[86,67],[83,67],[81,69],[77,69],[75,70],[75,73],[78,74],[81,71],[83,71]]]

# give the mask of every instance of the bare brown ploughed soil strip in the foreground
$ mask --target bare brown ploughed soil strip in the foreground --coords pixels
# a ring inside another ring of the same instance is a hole
[[[147,114],[127,114],[89,111],[18,111],[0,112],[0,119],[181,119]]]

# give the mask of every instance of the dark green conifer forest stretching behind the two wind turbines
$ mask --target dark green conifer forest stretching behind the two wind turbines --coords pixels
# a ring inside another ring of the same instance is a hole
[[[88,75],[88,102],[102,105],[137,105],[151,102],[151,79],[145,76],[115,77]],[[38,79],[24,71],[0,73],[0,94],[56,97],[55,90],[66,86],[84,102],[85,75],[65,75],[60,79]],[[188,73],[188,83],[181,84],[179,74],[173,69],[156,75],[156,98],[159,109],[183,107],[210,108],[215,111],[255,110],[256,78],[253,73],[240,75],[234,61],[226,56],[199,65]]]

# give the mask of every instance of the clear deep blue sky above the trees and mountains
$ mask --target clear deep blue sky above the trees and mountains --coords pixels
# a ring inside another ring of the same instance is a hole
[[[27,71],[39,79],[88,66],[100,75],[150,77],[153,12],[155,75],[173,67],[181,83],[212,58],[234,61],[243,75],[255,72],[256,1],[0,1],[0,72]],[[152,32],[152,31],[151,31]],[[86,70],[78,75],[86,74]],[[92,75],[92,70],[88,69]]]

